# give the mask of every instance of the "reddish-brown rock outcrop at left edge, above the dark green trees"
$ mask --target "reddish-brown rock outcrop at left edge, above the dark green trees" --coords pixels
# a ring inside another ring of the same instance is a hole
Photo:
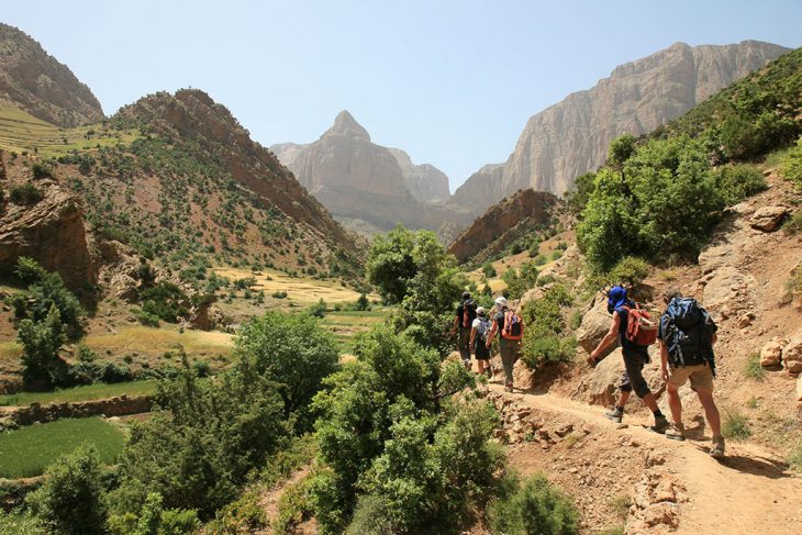
[[[93,282],[97,271],[83,226],[80,199],[56,182],[40,181],[44,192],[33,205],[9,203],[0,215],[0,272],[13,271],[16,259],[30,256],[58,271],[71,289]]]

